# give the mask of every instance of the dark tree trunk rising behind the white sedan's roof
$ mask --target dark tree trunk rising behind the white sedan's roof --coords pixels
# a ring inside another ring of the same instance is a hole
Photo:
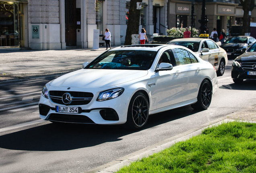
[[[139,10],[136,9],[137,2],[142,2],[142,0],[130,0],[129,16],[128,16],[128,23],[127,23],[124,45],[131,45],[132,34],[139,33],[140,9]]]

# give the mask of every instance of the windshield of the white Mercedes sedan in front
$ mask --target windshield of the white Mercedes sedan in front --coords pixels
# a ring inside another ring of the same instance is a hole
[[[87,68],[148,70],[157,52],[146,50],[107,51],[93,60]]]

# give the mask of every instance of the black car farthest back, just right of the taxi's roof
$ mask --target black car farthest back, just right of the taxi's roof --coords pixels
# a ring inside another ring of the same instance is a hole
[[[228,38],[225,43],[221,45],[221,48],[227,52],[228,58],[236,58],[243,54],[255,41],[256,39],[251,36],[233,36]]]

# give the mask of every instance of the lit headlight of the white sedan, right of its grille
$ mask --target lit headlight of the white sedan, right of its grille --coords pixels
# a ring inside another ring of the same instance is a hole
[[[124,93],[123,88],[116,88],[116,89],[111,89],[107,91],[102,91],[99,93],[99,97],[97,98],[97,101],[106,101],[110,99],[114,99]]]

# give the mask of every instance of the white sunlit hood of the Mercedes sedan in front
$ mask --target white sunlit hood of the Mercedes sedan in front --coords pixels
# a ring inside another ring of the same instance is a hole
[[[143,77],[147,70],[81,69],[52,80],[55,87],[107,87]]]

